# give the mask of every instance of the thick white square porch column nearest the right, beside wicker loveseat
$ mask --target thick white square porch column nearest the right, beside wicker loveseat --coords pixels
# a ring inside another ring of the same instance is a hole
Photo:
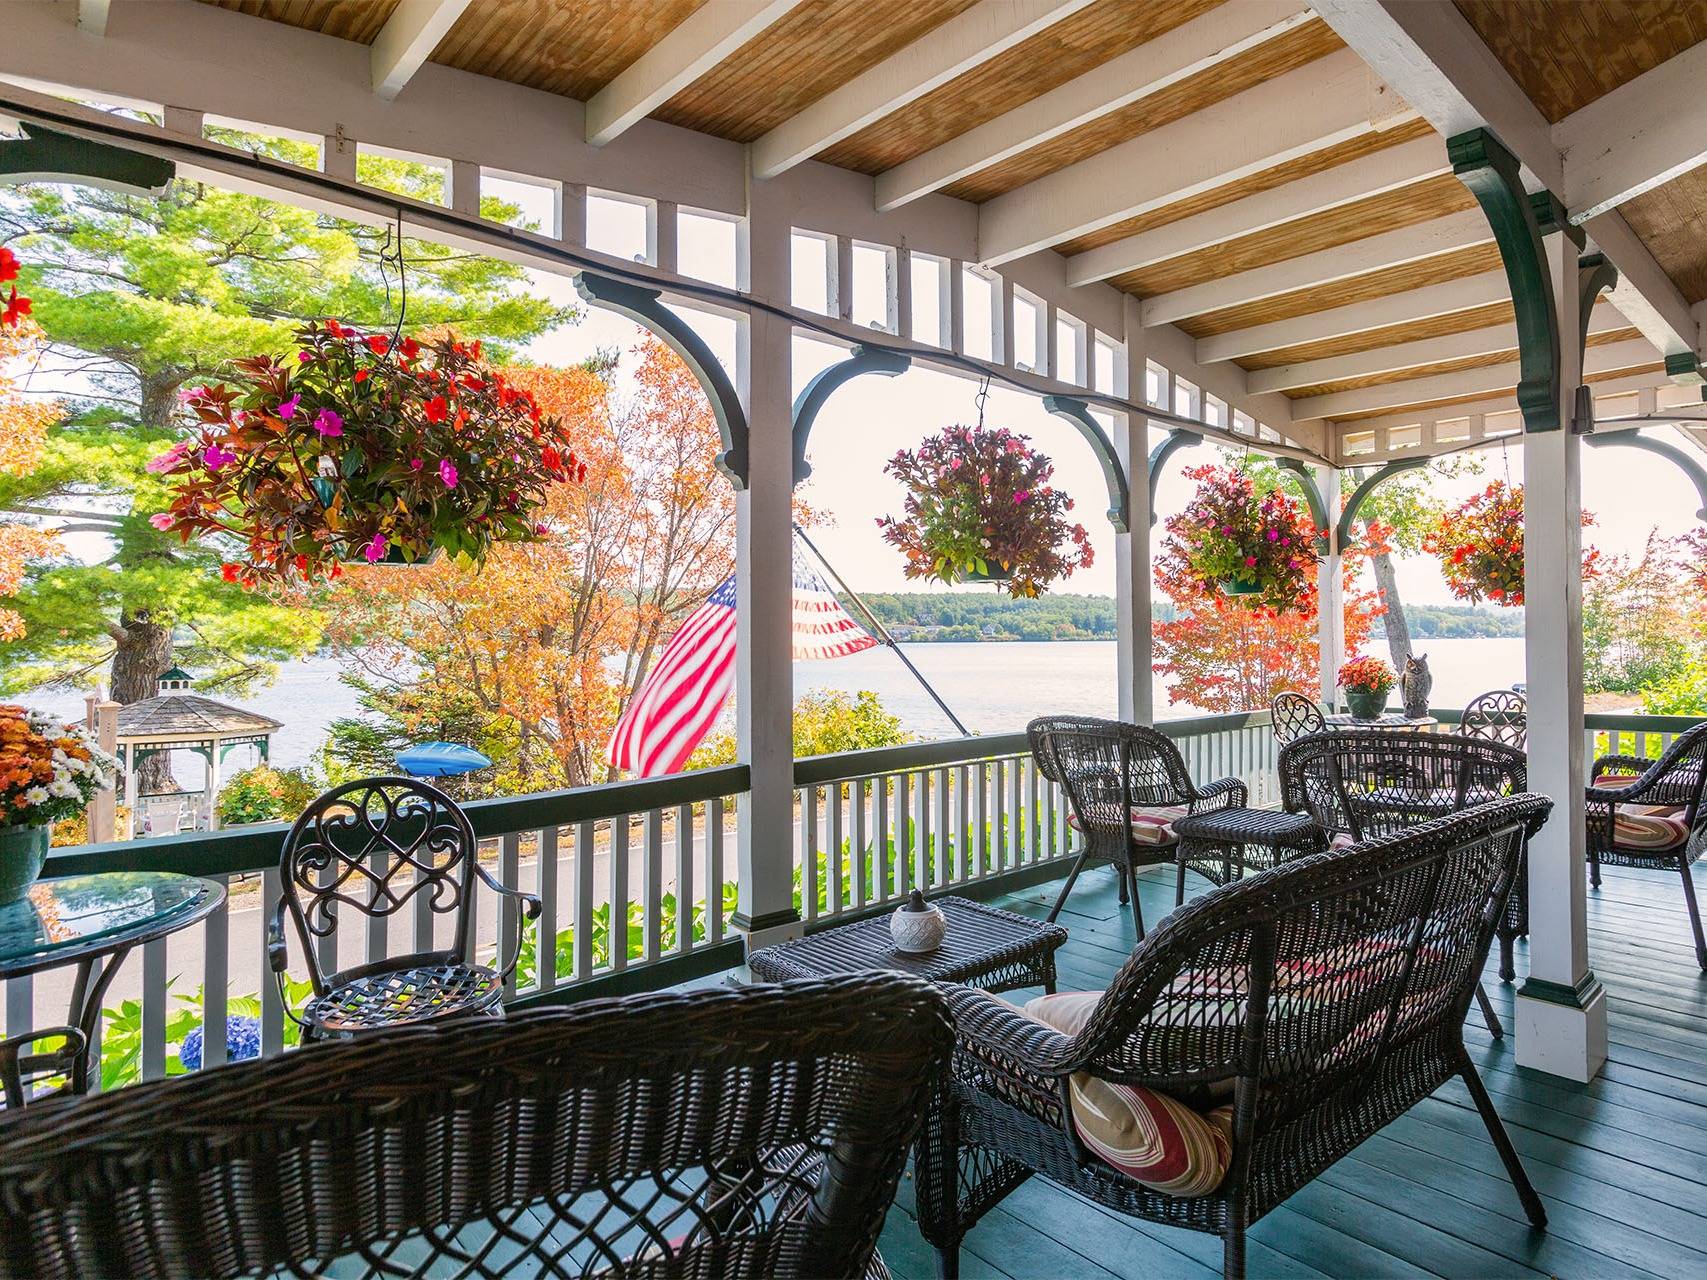
[[[1553,814],[1529,845],[1529,976],[1518,990],[1518,1065],[1593,1080],[1606,1062],[1606,993],[1589,968],[1582,824],[1582,379],[1577,251],[1547,239],[1560,333],[1557,432],[1523,437],[1523,597],[1529,790]]]

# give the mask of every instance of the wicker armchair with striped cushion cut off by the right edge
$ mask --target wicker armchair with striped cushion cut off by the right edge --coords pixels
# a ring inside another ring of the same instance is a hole
[[[1683,876],[1683,903],[1695,932],[1695,963],[1707,969],[1702,911],[1695,899],[1695,858],[1707,852],[1707,724],[1673,739],[1657,759],[1601,756],[1589,773],[1589,879],[1601,865],[1664,867]],[[1664,817],[1659,817],[1659,814]]]

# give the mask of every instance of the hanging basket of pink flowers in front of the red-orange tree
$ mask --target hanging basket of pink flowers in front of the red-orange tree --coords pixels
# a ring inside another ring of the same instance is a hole
[[[1304,503],[1280,490],[1258,495],[1238,468],[1200,466],[1186,478],[1197,481],[1197,493],[1168,521],[1168,532],[1203,592],[1273,613],[1309,608],[1321,531]]]

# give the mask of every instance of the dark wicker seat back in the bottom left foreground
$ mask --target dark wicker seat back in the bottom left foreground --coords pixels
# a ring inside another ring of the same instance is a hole
[[[0,1142],[0,1273],[881,1273],[951,1048],[939,988],[852,975],[420,1026],[51,1103]]]

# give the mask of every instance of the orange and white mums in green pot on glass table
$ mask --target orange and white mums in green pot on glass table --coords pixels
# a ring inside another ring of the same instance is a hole
[[[41,876],[56,821],[113,785],[116,761],[79,725],[0,707],[0,906]]]

